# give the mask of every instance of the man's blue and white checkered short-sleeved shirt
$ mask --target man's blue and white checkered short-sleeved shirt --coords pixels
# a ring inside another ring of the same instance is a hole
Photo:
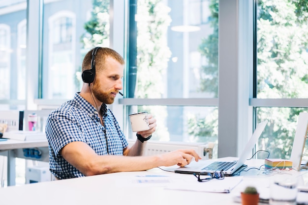
[[[60,179],[85,176],[59,154],[71,142],[84,142],[98,155],[123,155],[128,143],[119,123],[106,104],[102,104],[101,113],[104,126],[95,107],[76,93],[73,100],[63,103],[48,116],[45,130],[49,143],[49,167],[54,176]]]

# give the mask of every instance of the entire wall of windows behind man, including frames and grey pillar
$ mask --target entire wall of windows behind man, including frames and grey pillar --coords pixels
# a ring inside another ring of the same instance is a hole
[[[135,137],[128,114],[146,110],[159,122],[154,139],[218,143],[219,138],[219,157],[239,155],[252,125],[265,119],[270,123],[258,149],[274,153],[279,140],[291,145],[298,113],[308,107],[307,11],[301,7],[307,2],[129,2],[1,2],[0,108],[59,106],[80,91],[85,53],[107,46],[126,61],[124,98],[110,106],[126,136]],[[281,149],[287,157],[290,150]]]

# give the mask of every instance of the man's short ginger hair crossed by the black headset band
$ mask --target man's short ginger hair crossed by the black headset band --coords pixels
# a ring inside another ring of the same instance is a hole
[[[93,49],[85,55],[84,60],[82,62],[82,71],[91,69],[92,51]],[[101,47],[96,51],[96,54],[94,56],[96,71],[100,71],[105,68],[104,64],[107,57],[112,57],[122,65],[125,64],[123,57],[117,51]]]

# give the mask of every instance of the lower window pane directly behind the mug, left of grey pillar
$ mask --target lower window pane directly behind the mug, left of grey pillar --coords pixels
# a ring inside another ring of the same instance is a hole
[[[157,128],[151,140],[214,142],[217,146],[217,107],[202,106],[126,106],[128,114],[147,111],[157,120]],[[202,119],[202,120],[200,120]],[[126,128],[129,138],[135,139],[128,115]]]

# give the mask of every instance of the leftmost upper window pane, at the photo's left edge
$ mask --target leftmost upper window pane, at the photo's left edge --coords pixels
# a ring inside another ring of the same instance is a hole
[[[0,1],[0,100],[25,100],[26,9],[27,0]]]

